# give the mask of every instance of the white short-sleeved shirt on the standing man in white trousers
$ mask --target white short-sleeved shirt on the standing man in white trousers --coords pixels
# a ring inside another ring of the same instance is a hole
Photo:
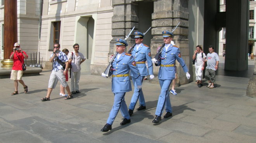
[[[72,72],[78,72],[81,71],[80,62],[85,59],[82,53],[78,52],[78,56],[76,56],[76,53],[73,52],[73,58],[72,58],[72,52],[69,52],[67,55],[67,59],[72,59],[71,65],[71,71]]]

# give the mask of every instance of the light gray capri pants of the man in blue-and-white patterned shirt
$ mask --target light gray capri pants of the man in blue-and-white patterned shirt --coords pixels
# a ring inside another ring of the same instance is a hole
[[[59,70],[59,71],[52,71],[51,75],[50,75],[50,79],[49,79],[49,83],[48,83],[48,88],[55,88],[58,81],[61,82],[61,85],[63,87],[67,87],[67,82],[66,82],[66,78],[63,74],[63,69]]]

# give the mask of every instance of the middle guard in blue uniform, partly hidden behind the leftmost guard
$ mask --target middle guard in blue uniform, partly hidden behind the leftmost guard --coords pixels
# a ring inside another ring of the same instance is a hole
[[[154,74],[153,74],[153,64],[151,61],[150,47],[142,43],[144,34],[142,34],[141,32],[134,32],[134,35],[135,35],[136,45],[133,48],[133,50],[131,51],[131,56],[134,57],[136,65],[138,67],[138,70],[140,71],[141,81],[143,81],[144,77],[149,74],[150,74],[150,79],[153,79]],[[147,71],[147,66],[145,64],[146,61],[147,61],[147,65],[149,68],[149,73]],[[130,116],[133,114],[133,110],[135,108],[135,105],[136,105],[138,99],[140,101],[140,106],[139,106],[139,108],[137,108],[137,110],[139,111],[139,110],[146,109],[146,104],[145,104],[145,99],[144,99],[144,95],[142,92],[142,88],[140,88],[140,89],[137,88],[137,84],[135,82],[135,78],[132,73],[131,73],[131,79],[133,81],[134,92],[133,92],[133,96],[131,98],[131,103],[130,103],[129,111],[128,111]]]

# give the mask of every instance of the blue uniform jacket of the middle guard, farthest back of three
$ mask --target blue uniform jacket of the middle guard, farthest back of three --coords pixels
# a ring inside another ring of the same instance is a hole
[[[134,47],[133,51],[131,52],[131,55],[134,57],[135,62],[144,62],[147,61],[147,66],[149,67],[149,73],[147,71],[146,64],[137,64],[138,70],[140,71],[140,76],[147,76],[153,74],[153,64],[151,61],[151,52],[150,47],[147,45],[142,45],[138,48],[136,46]],[[131,73],[131,76],[133,74]]]

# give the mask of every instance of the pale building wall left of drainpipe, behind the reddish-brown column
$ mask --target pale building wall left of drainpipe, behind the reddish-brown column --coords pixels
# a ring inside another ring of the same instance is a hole
[[[17,0],[17,36],[27,53],[38,51],[40,0]],[[4,0],[0,0],[0,59],[3,59]],[[16,41],[17,42],[17,41]],[[15,42],[14,42],[15,43]],[[30,55],[29,55],[30,56]]]

